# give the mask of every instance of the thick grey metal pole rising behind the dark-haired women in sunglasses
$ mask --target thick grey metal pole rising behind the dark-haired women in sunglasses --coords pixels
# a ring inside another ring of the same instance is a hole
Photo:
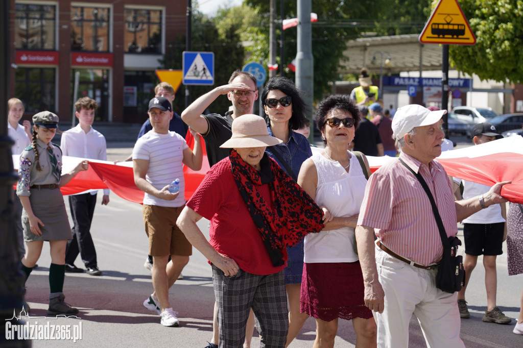
[[[298,1],[298,53],[296,54],[296,86],[304,92],[305,104],[310,112],[307,118],[314,124],[312,102],[314,98],[314,64],[312,56],[311,0]],[[314,132],[309,142],[314,141]]]

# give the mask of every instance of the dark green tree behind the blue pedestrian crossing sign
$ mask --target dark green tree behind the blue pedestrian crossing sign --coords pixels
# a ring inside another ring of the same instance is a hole
[[[190,86],[191,101],[206,94],[215,86],[221,86],[229,81],[236,69],[241,69],[245,50],[240,42],[235,26],[219,30],[209,17],[194,11],[192,14],[191,51],[214,52],[214,86]],[[182,69],[182,52],[185,51],[185,36],[178,36],[167,45],[167,50],[160,64],[165,69]],[[180,85],[176,92],[173,109],[181,114],[185,109],[185,86]],[[210,106],[209,111],[223,114],[229,109],[231,102],[226,96],[218,97]]]

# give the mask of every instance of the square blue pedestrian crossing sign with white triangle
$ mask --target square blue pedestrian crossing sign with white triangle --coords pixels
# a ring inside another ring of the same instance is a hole
[[[214,85],[214,53],[183,52],[184,85]]]

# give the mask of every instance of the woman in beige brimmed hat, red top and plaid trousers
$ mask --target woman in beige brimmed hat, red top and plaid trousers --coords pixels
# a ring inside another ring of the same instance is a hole
[[[221,145],[232,148],[229,157],[209,170],[177,221],[212,265],[220,347],[243,345],[251,308],[261,342],[285,346],[286,247],[323,228],[322,210],[265,154],[279,143],[263,118],[236,118]],[[211,222],[209,241],[196,224],[202,217]]]

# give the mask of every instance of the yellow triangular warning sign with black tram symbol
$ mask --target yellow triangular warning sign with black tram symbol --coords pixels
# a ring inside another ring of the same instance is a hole
[[[439,0],[419,36],[423,43],[473,45],[476,37],[463,15],[458,0]]]

